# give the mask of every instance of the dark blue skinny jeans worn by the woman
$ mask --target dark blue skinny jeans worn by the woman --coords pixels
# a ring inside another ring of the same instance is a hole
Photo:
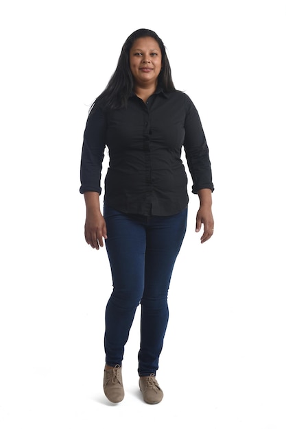
[[[187,227],[187,208],[174,216],[126,215],[104,207],[113,291],[106,306],[106,363],[121,365],[141,304],[139,376],[156,374],[169,310],[171,273]]]

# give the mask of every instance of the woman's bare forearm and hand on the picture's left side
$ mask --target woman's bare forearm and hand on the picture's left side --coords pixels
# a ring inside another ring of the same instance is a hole
[[[86,203],[86,222],[84,225],[84,236],[86,243],[93,249],[103,247],[103,238],[107,238],[106,222],[100,211],[99,193],[85,192],[84,201]]]

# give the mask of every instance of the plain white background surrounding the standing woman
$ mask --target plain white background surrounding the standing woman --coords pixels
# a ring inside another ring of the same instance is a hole
[[[286,428],[285,12],[278,0],[2,1],[1,429]],[[88,108],[141,27],[163,39],[176,88],[200,113],[215,235],[200,244],[190,195],[157,374],[164,400],[141,400],[137,312],[126,398],[112,406],[112,282],[105,249],[84,241],[80,154]]]

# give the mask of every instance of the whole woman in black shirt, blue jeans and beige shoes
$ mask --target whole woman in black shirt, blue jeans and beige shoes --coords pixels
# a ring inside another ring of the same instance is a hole
[[[104,216],[99,206],[105,147]],[[139,387],[148,404],[163,391],[156,380],[168,321],[167,293],[187,225],[187,175],[182,146],[198,193],[196,231],[213,234],[213,183],[208,147],[191,99],[175,89],[162,40],[148,29],[132,33],[117,69],[88,115],[82,149],[80,192],[86,203],[86,242],[106,241],[113,291],[106,306],[104,393],[124,397],[124,346],[141,304]]]

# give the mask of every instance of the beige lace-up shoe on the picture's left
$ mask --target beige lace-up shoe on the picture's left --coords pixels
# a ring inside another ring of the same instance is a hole
[[[110,402],[121,402],[124,397],[121,366],[104,369],[104,393]]]

